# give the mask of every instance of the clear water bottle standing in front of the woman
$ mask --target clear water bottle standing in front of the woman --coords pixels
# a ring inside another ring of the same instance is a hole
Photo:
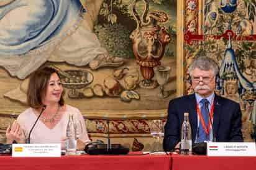
[[[66,154],[76,154],[76,126],[74,115],[70,115],[68,118],[65,148]]]

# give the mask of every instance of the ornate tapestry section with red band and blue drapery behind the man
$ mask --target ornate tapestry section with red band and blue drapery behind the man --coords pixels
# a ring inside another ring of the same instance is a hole
[[[219,64],[216,93],[240,104],[245,141],[256,137],[256,1],[188,0],[183,13],[184,94],[193,92],[188,66],[196,56]],[[182,74],[182,73],[181,73]]]

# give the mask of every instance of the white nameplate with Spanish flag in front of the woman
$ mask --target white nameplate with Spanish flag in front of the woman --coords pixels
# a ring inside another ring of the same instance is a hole
[[[12,157],[60,157],[60,144],[12,144]]]

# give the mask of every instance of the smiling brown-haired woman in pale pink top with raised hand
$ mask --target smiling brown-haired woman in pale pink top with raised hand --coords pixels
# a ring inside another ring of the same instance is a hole
[[[17,143],[25,143],[29,131],[40,116],[30,134],[30,143],[62,143],[66,139],[66,127],[70,114],[74,115],[78,125],[78,149],[85,148],[89,143],[83,116],[75,107],[66,105],[63,99],[63,87],[58,72],[53,68],[45,67],[32,73],[27,91],[27,103],[30,108],[22,112],[17,121],[6,130],[7,143],[16,140]],[[43,106],[46,106],[43,110]]]

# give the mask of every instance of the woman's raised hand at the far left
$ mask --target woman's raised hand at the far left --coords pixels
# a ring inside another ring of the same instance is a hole
[[[21,143],[22,140],[22,130],[19,123],[16,120],[12,123],[12,127],[9,125],[6,129],[6,143],[12,143],[12,141],[17,141],[17,143]]]

